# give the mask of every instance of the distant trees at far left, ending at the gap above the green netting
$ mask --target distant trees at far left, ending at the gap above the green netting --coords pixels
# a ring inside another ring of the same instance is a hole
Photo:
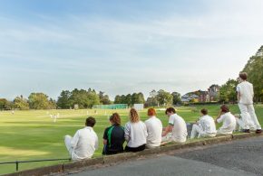
[[[111,104],[108,95],[104,95],[102,91],[98,94],[92,88],[88,90],[73,89],[72,91],[63,90],[57,101],[48,97],[44,93],[31,93],[29,97],[18,96],[13,101],[8,101],[5,98],[0,99],[0,109],[55,109],[73,108],[78,105],[79,108],[91,108],[93,105]]]

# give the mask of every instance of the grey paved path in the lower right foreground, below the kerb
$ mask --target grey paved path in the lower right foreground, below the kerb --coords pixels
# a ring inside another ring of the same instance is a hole
[[[263,137],[83,171],[73,176],[263,175]]]

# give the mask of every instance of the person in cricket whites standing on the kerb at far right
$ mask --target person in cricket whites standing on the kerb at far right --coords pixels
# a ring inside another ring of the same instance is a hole
[[[253,106],[253,85],[247,81],[248,74],[246,72],[241,72],[239,79],[240,83],[237,86],[237,92],[239,109],[244,122],[244,132],[249,133],[249,124],[252,122],[254,128],[256,128],[256,133],[260,134],[262,132],[261,125],[258,123],[258,117]]]

